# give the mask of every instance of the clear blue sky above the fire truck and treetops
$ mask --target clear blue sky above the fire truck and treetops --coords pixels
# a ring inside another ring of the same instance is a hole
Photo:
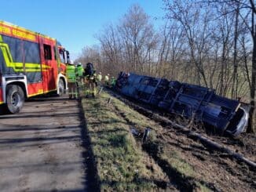
[[[1,0],[0,20],[57,38],[75,59],[86,45],[98,44],[95,34],[117,24],[134,3],[162,23],[162,0]]]

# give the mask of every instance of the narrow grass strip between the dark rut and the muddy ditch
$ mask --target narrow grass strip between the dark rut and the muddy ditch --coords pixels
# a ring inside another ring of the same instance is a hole
[[[140,132],[143,132],[146,127],[151,129],[149,140],[151,143],[157,143],[157,146],[152,144],[152,147],[157,147],[157,149],[152,150],[157,150],[157,155],[159,158],[167,161],[170,167],[174,168],[174,170],[179,172],[184,178],[195,178],[195,180],[196,178],[201,178],[201,176],[196,173],[193,166],[186,161],[186,157],[181,154],[180,150],[170,149],[166,141],[157,138],[157,135],[160,134],[160,132],[166,131],[163,130],[161,125],[155,121],[152,121],[150,118],[141,115],[120,100],[113,100],[112,104],[117,110],[119,110],[120,113],[129,119],[130,124],[132,124]],[[199,182],[196,182],[196,186],[202,191],[210,190]]]

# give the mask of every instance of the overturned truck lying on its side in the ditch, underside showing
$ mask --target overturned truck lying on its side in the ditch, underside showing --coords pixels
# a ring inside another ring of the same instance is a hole
[[[248,112],[240,101],[218,96],[214,89],[123,72],[115,88],[170,114],[201,121],[218,132],[238,136],[247,127]]]

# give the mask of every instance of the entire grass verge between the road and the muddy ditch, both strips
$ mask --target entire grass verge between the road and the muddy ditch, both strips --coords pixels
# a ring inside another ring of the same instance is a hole
[[[191,190],[195,185],[208,190],[189,182],[196,172],[179,151],[170,153],[158,139],[160,125],[115,98],[108,103],[109,97],[102,92],[95,99],[82,100],[101,190]],[[130,133],[131,128],[143,132],[147,127],[148,143]]]

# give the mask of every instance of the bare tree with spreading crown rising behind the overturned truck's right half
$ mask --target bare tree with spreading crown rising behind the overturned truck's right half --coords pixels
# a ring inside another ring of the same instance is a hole
[[[210,14],[207,10],[202,11],[193,1],[181,0],[164,0],[167,10],[167,18],[177,20],[188,40],[188,48],[190,49],[190,58],[196,67],[196,84],[208,85],[207,77],[203,67],[203,52],[209,38],[208,27]]]

